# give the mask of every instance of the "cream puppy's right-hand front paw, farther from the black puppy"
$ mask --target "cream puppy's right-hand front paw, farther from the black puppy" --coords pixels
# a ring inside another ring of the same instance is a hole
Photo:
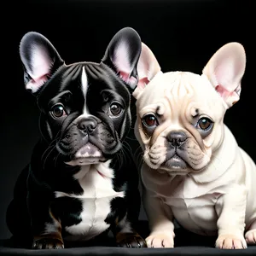
[[[245,249],[247,248],[247,242],[243,236],[228,234],[218,236],[215,246],[220,249]]]

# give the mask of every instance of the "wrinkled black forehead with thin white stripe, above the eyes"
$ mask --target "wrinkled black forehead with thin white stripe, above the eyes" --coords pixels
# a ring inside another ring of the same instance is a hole
[[[98,100],[102,90],[118,94],[127,102],[130,99],[125,83],[105,64],[93,62],[74,63],[61,67],[49,79],[44,90],[38,97],[39,105],[58,97],[63,91],[70,91],[76,101],[83,102],[84,98]]]

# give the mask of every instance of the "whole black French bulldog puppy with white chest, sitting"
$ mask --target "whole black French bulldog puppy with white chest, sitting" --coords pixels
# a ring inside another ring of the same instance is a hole
[[[62,248],[109,230],[120,247],[146,247],[134,230],[137,168],[123,147],[131,126],[141,40],[126,27],[100,63],[66,65],[38,32],[20,42],[26,90],[40,109],[41,139],[7,211],[9,230],[32,248]],[[103,236],[103,235],[102,235]]]

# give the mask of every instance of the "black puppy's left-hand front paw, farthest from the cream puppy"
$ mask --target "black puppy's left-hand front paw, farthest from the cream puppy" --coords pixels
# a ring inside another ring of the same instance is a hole
[[[42,237],[35,239],[32,245],[33,249],[63,249],[63,241],[52,238],[52,237]]]

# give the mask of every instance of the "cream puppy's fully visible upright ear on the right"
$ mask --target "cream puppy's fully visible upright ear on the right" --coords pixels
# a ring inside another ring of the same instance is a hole
[[[224,44],[218,49],[202,71],[222,96],[227,108],[239,101],[245,67],[245,50],[241,44],[235,42]]]

